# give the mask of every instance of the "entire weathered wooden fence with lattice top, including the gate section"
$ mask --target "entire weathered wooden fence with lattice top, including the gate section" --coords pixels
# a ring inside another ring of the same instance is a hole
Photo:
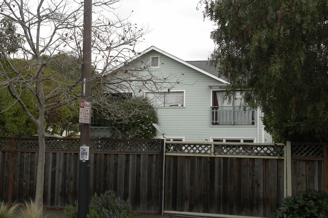
[[[46,139],[46,206],[77,199],[79,143]],[[37,148],[0,139],[1,200],[34,198]],[[90,197],[113,190],[138,212],[275,217],[284,196],[328,187],[326,144],[92,139],[90,150]]]

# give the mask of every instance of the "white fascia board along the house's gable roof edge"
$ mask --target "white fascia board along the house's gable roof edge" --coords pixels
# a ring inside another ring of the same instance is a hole
[[[182,63],[182,64],[184,64],[184,65],[187,65],[188,67],[191,67],[191,68],[193,68],[193,69],[195,69],[195,70],[197,70],[197,71],[199,71],[199,72],[201,72],[201,73],[203,73],[203,74],[205,74],[205,75],[208,75],[208,76],[210,76],[210,77],[212,77],[212,78],[214,78],[214,79],[216,79],[216,80],[218,80],[218,81],[220,81],[220,82],[223,82],[223,83],[225,83],[225,84],[228,84],[228,82],[227,82],[226,80],[221,79],[221,78],[219,78],[219,77],[217,77],[217,76],[215,76],[215,75],[213,75],[213,74],[210,74],[210,73],[206,72],[205,70],[202,70],[202,69],[200,69],[200,68],[198,68],[198,67],[196,67],[196,66],[194,66],[194,65],[192,65],[192,64],[190,64],[190,63],[188,63],[188,62],[186,62],[186,61],[184,61],[184,60],[181,60],[181,59],[179,59],[179,58],[177,58],[177,57],[175,57],[175,56],[173,56],[173,55],[171,55],[171,54],[169,54],[169,53],[167,53],[167,52],[165,52],[165,51],[163,51],[163,50],[161,50],[161,49],[159,49],[159,48],[156,48],[155,46],[151,46],[151,47],[147,48],[147,49],[144,50],[143,52],[140,52],[140,54],[133,56],[133,57],[132,57],[131,59],[129,59],[127,62],[131,62],[132,60],[139,58],[140,56],[146,54],[147,52],[150,52],[151,50],[157,51],[158,53],[161,53],[161,54],[163,54],[163,55],[166,55],[166,56],[168,56],[169,58],[172,58],[172,59],[174,59],[174,60],[176,60],[176,61],[178,61],[178,62],[180,62],[180,63]],[[120,65],[119,65],[118,67],[116,67],[115,69],[118,69],[118,68],[122,67],[123,65],[124,65],[124,63],[120,64]]]

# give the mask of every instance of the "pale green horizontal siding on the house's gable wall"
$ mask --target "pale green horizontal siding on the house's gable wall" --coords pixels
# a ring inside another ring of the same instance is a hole
[[[157,108],[158,125],[166,132],[166,137],[185,137],[185,141],[194,142],[204,142],[210,137],[257,138],[256,126],[210,126],[211,90],[215,87],[211,89],[207,84],[222,82],[155,51],[148,53],[152,55],[160,56],[160,63],[163,63],[154,68],[154,74],[167,78],[175,75],[182,82],[169,88],[185,90],[185,107]],[[162,135],[158,133],[157,137]]]

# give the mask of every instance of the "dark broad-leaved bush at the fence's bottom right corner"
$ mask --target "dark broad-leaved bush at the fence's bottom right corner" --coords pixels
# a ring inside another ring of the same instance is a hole
[[[295,197],[287,196],[276,210],[276,217],[287,218],[326,218],[328,194],[315,190],[298,193]]]

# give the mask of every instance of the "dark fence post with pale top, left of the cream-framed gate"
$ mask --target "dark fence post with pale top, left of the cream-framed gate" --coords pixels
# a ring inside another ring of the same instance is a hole
[[[164,172],[165,172],[165,138],[161,138],[160,166],[159,166],[159,201],[158,214],[163,215],[164,210]]]

